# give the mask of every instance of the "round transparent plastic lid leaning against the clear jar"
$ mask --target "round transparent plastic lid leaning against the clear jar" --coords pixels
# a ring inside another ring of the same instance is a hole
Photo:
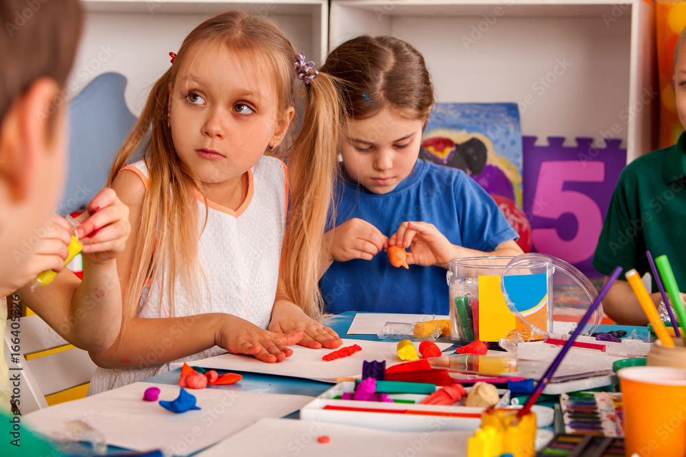
[[[576,329],[598,291],[571,264],[547,254],[522,254],[510,260],[502,277],[505,302],[526,328],[546,338]],[[592,334],[602,322],[602,304],[581,334]]]

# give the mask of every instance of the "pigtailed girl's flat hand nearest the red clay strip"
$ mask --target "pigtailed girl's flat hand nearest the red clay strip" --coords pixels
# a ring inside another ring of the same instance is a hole
[[[303,330],[305,335],[298,343],[311,349],[335,349],[343,344],[338,334],[328,327],[307,316],[296,304],[285,299],[274,301],[272,321],[269,330],[275,333],[285,333],[288,330]]]

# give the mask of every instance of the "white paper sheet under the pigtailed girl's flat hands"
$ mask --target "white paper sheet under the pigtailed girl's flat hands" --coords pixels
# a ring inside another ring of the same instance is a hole
[[[224,369],[234,371],[249,371],[250,373],[266,373],[270,375],[294,376],[324,382],[335,382],[336,378],[362,375],[364,360],[386,360],[386,368],[397,365],[403,360],[398,358],[397,341],[364,341],[344,339],[341,347],[359,345],[362,351],[351,356],[325,362],[322,357],[333,349],[309,349],[303,346],[290,346],[293,355],[279,363],[265,363],[252,356],[237,354],[222,354],[220,356],[194,360],[191,365],[203,368]],[[443,350],[450,347],[450,343],[436,343]],[[418,349],[419,343],[414,343]],[[340,349],[340,348],[338,348]]]

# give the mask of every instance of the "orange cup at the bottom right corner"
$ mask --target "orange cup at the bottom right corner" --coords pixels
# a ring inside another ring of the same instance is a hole
[[[617,376],[624,403],[625,455],[686,456],[686,369],[628,367]]]

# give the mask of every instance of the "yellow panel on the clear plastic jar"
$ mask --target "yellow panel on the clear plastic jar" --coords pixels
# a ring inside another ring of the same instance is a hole
[[[510,312],[500,288],[500,276],[479,277],[479,339],[498,341],[514,330]]]

